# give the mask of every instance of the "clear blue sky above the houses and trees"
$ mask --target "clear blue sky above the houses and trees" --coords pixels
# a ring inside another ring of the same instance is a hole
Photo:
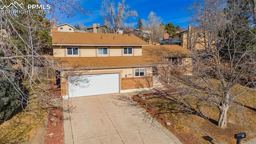
[[[111,1],[111,0],[110,0]],[[114,0],[117,5],[121,0]],[[172,22],[174,26],[179,25],[182,28],[188,28],[189,13],[184,8],[193,4],[194,0],[126,0],[126,4],[131,6],[130,10],[136,10],[138,16],[135,19],[130,19],[130,25],[136,27],[138,19],[147,20],[148,14],[153,11],[157,16],[162,18],[164,24]],[[67,18],[64,16],[58,23],[68,23],[72,26],[77,25],[79,22],[84,26],[92,26],[93,23],[104,24],[102,16],[98,12],[102,0],[81,0],[85,10],[90,10],[92,15],[84,16],[77,14],[74,17]]]

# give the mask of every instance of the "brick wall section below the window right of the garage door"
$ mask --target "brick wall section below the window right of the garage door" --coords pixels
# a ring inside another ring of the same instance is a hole
[[[122,78],[122,90],[153,87],[153,76]]]

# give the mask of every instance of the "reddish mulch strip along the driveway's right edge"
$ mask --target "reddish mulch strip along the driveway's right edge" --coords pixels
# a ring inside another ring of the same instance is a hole
[[[172,91],[174,92],[174,91]],[[158,93],[161,94],[161,93]],[[145,94],[145,96],[148,96]],[[184,143],[184,144],[200,144],[195,138],[193,138],[190,134],[184,133],[184,132],[179,132],[175,130],[174,124],[168,120],[163,114],[160,114],[155,108],[147,104],[142,98],[139,96],[132,96],[132,99],[136,101],[142,108],[146,110],[153,118],[158,120],[160,124],[162,124],[165,128],[167,128],[172,134],[176,135],[178,139]],[[170,122],[170,126],[166,125],[166,122]]]

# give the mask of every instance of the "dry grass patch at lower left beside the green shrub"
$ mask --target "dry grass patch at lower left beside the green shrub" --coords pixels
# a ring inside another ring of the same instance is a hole
[[[24,83],[26,84],[26,82]],[[27,87],[28,88],[28,87]],[[28,88],[31,94],[31,90]],[[45,127],[48,111],[35,95],[29,97],[29,107],[20,108],[10,120],[0,125],[0,143],[16,144],[31,141],[39,127]],[[42,140],[41,142],[42,143]]]

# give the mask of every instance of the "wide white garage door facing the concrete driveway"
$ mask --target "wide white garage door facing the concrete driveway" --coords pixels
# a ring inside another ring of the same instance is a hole
[[[119,74],[98,74],[68,77],[69,97],[119,92]]]

